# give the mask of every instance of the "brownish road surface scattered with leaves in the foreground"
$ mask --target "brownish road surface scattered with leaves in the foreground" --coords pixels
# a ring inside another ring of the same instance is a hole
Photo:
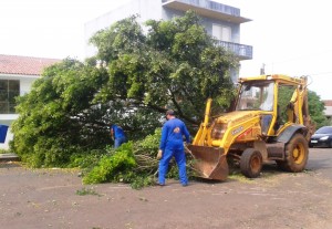
[[[0,228],[332,228],[332,150],[311,149],[307,169],[266,165],[259,178],[132,189],[82,185],[79,170],[0,164]]]

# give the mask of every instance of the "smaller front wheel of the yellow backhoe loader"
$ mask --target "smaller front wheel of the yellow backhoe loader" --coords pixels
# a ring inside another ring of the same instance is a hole
[[[262,168],[261,153],[255,148],[247,148],[240,159],[241,173],[249,178],[259,177]]]

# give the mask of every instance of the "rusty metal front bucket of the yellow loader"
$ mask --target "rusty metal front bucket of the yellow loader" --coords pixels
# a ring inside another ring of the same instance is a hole
[[[195,158],[195,169],[199,177],[216,180],[226,180],[228,177],[228,164],[224,148],[209,146],[188,145]]]

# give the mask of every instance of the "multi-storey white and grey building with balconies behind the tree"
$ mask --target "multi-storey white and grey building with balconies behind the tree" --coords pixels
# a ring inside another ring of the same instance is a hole
[[[95,54],[96,50],[87,45],[89,39],[98,30],[114,22],[138,14],[138,22],[153,20],[170,20],[181,17],[186,11],[194,10],[203,19],[206,31],[219,41],[219,44],[232,51],[240,60],[252,59],[252,46],[240,43],[241,23],[251,21],[240,14],[240,9],[210,0],[133,0],[123,7],[103,14],[85,23],[86,56]],[[232,79],[238,72],[232,73]]]

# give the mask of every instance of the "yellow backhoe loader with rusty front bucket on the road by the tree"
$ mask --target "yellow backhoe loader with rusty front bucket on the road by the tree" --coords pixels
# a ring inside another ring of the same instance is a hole
[[[273,74],[239,79],[229,113],[212,116],[209,98],[204,122],[188,145],[198,176],[226,180],[229,159],[250,178],[273,160],[283,170],[302,171],[314,132],[307,96],[307,76]]]

